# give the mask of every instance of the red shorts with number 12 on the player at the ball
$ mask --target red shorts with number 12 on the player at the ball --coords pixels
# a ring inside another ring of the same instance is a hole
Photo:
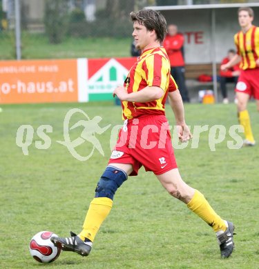
[[[177,168],[169,123],[164,115],[144,115],[124,122],[112,152],[111,163],[129,163],[131,176],[144,166],[155,175]]]

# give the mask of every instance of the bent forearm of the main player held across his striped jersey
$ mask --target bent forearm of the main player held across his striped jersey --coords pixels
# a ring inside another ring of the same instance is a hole
[[[113,91],[113,97],[115,97],[115,95],[117,95],[117,97],[121,101],[146,103],[163,97],[164,90],[157,86],[146,86],[146,88],[138,92],[128,93],[126,88],[124,88],[123,86],[118,86]]]

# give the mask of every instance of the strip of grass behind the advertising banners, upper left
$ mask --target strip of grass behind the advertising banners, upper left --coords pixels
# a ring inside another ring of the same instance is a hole
[[[0,60],[16,59],[15,37],[0,33]],[[115,38],[66,38],[60,44],[50,44],[44,34],[23,32],[21,38],[22,59],[71,59],[130,57],[131,37]]]

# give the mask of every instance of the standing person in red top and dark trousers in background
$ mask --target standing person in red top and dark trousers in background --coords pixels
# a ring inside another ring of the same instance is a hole
[[[182,100],[189,102],[189,93],[185,83],[184,64],[184,35],[178,32],[178,27],[169,24],[168,34],[164,38],[163,46],[169,56],[171,64],[171,75],[178,84]]]

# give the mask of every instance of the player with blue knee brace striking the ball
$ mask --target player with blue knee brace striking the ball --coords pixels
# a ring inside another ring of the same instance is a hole
[[[169,97],[175,114],[178,136],[182,142],[191,138],[184,121],[184,107],[180,92],[170,74],[169,57],[161,43],[166,33],[166,20],[155,10],[131,12],[133,37],[142,54],[131,68],[124,86],[113,94],[122,101],[124,126],[119,132],[115,150],[95,189],[84,221],[83,230],[70,237],[52,237],[55,246],[87,256],[102,222],[113,206],[113,197],[128,176],[137,175],[144,166],[152,171],[169,194],[206,221],[215,231],[221,257],[231,255],[233,223],[224,221],[211,208],[202,193],[188,186],[180,176],[175,161],[169,123],[164,104]]]

